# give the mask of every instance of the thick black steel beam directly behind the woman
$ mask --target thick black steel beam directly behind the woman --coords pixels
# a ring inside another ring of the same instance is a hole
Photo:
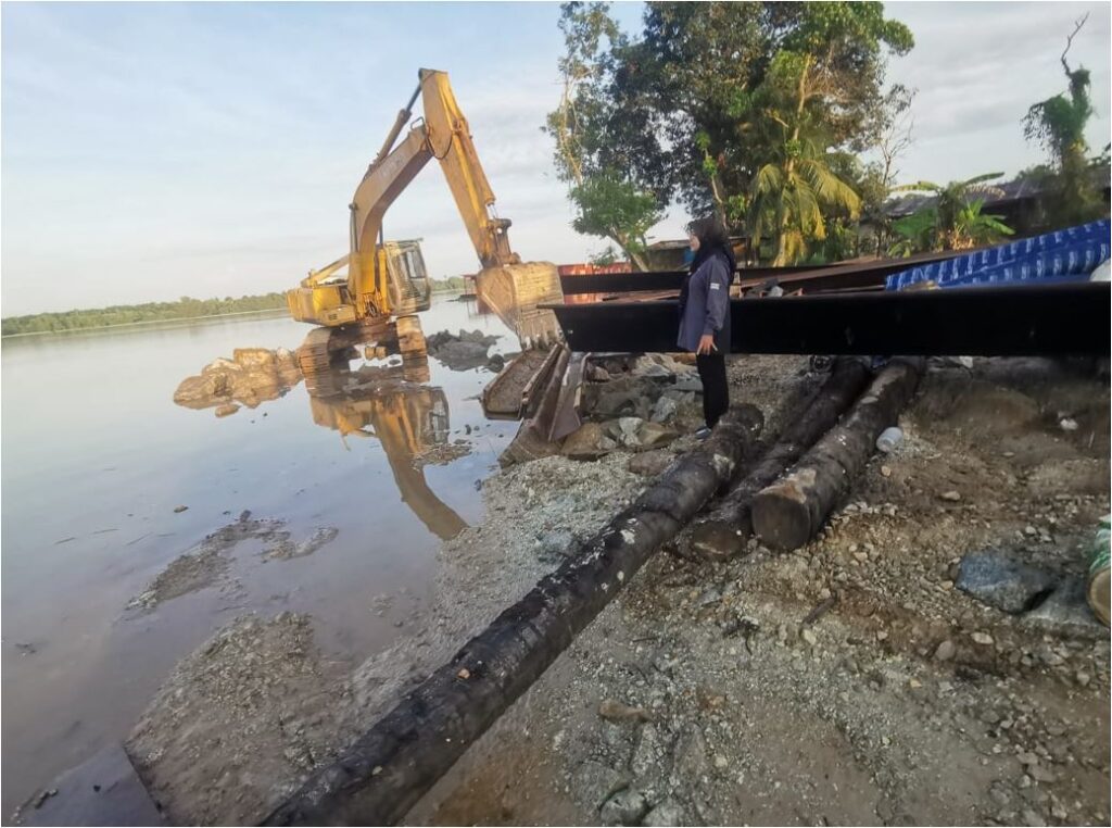
[[[676,303],[548,305],[574,351],[676,349]],[[741,354],[1108,355],[1108,283],[731,302]]]

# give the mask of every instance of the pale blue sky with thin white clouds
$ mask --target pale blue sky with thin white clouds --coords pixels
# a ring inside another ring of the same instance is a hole
[[[627,31],[641,3],[617,3]],[[892,2],[919,90],[900,180],[1043,160],[1027,107],[1092,70],[1109,142],[1110,6]],[[447,70],[526,260],[606,247],[570,228],[540,131],[559,97],[556,3],[13,3],[0,7],[0,314],[284,290],[347,253],[347,205],[417,69]],[[679,238],[674,206],[654,230]],[[385,221],[435,277],[478,263],[429,164]]]

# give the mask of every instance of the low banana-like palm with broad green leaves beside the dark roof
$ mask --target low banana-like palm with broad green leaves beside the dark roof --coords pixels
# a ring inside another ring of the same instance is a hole
[[[974,198],[976,195],[1004,195],[1000,187],[986,184],[1003,175],[1003,172],[985,172],[964,181],[951,181],[944,187],[932,181],[915,181],[894,187],[892,191],[933,193],[935,203],[930,208],[934,214],[932,247],[942,250],[965,250],[996,241],[1001,236],[1012,235],[1012,228],[1000,220],[1003,216],[982,214],[984,199]]]

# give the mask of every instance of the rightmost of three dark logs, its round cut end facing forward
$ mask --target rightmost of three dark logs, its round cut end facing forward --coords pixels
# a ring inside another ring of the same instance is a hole
[[[893,359],[841,425],[827,432],[792,473],[753,499],[753,529],[777,550],[798,549],[822,529],[873,454],[876,437],[894,424],[923,373],[921,358]]]

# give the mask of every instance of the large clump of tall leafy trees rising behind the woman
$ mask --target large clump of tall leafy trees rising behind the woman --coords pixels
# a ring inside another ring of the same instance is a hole
[[[546,124],[557,169],[574,199],[615,170],[625,185],[579,189],[577,227],[607,227],[583,213],[588,200],[599,204],[584,196],[605,193],[628,207],[637,195],[642,213],[606,210],[628,219],[635,238],[634,225],[653,215],[651,195],[656,211],[679,199],[691,215],[713,211],[743,233],[759,221],[778,260],[856,246],[861,199],[831,150],[872,146],[906,100],[898,87],[882,92],[887,56],[913,46],[882,3],[649,2],[635,38],[604,3],[562,9],[565,90]]]

